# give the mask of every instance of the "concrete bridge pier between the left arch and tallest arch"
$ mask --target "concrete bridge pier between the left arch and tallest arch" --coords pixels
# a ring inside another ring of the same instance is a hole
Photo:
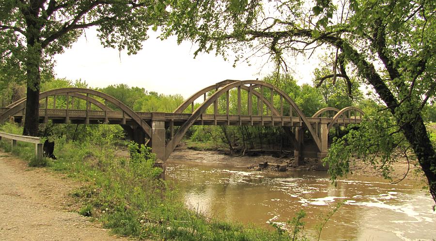
[[[165,113],[152,112],[151,148],[156,159],[165,161]]]

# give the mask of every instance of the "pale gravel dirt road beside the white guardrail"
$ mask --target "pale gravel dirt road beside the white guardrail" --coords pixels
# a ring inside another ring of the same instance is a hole
[[[78,183],[0,151],[0,241],[126,240],[73,210]]]

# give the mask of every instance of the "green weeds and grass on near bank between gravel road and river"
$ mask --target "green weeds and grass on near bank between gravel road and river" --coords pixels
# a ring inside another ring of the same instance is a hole
[[[19,133],[22,128],[6,123],[1,130]],[[296,228],[296,235],[291,233],[291,236],[280,226],[269,230],[230,223],[187,209],[173,185],[158,178],[162,170],[153,166],[154,156],[147,147],[134,143],[120,145],[122,132],[115,125],[90,125],[84,131],[87,138],[80,141],[66,138],[71,135],[50,136],[56,143],[57,160],[44,159],[45,164],[51,170],[82,181],[83,187],[71,193],[82,203],[76,211],[99,220],[118,235],[180,241],[304,239],[300,233],[304,216],[301,213],[289,223]],[[1,146],[10,150],[10,142],[3,140]],[[115,155],[120,148],[127,148],[130,157]],[[31,146],[19,143],[16,150],[15,154],[32,160]]]

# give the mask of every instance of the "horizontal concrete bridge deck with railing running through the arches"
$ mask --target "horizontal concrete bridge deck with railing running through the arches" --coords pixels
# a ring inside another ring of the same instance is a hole
[[[1,108],[2,112],[7,108]],[[47,114],[46,114],[47,112]],[[152,120],[152,112],[137,112],[139,116],[146,122]],[[85,124],[88,118],[89,124],[105,123],[109,124],[127,124],[136,125],[128,115],[121,111],[85,111],[85,110],[61,110],[61,109],[40,109],[40,122],[43,123],[47,119],[53,120],[54,123],[66,123],[67,116],[73,124]],[[14,118],[16,121],[21,121],[24,116],[24,111],[16,113]],[[181,126],[191,116],[190,113],[164,113],[166,122],[173,121],[174,126]],[[333,118],[326,117],[307,117],[311,124],[330,123]],[[359,117],[351,116],[351,118],[340,118],[339,124],[360,123]],[[299,127],[302,126],[302,120],[298,116],[271,116],[271,115],[232,115],[232,114],[202,114],[194,125],[252,125],[252,126],[287,126]]]

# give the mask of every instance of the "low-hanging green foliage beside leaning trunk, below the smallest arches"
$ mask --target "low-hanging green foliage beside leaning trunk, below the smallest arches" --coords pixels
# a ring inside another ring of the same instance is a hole
[[[397,157],[408,154],[409,144],[390,114],[367,113],[360,125],[349,125],[346,130],[343,137],[333,140],[327,158],[323,160],[329,165],[331,179],[335,181],[350,172],[350,165],[357,156],[392,180],[391,164]]]

